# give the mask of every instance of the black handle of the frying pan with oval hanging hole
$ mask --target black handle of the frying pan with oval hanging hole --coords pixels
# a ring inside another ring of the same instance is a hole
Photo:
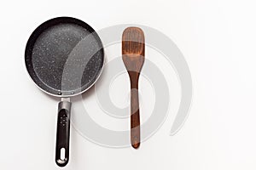
[[[55,161],[60,167],[65,167],[69,159],[70,110],[71,102],[59,103]]]

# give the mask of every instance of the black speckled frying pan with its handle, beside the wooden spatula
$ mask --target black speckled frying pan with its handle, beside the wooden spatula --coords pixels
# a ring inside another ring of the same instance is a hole
[[[46,94],[61,98],[55,148],[55,162],[60,167],[69,159],[70,97],[84,93],[96,82],[103,61],[96,31],[70,17],[47,20],[26,43],[26,70],[32,81]]]

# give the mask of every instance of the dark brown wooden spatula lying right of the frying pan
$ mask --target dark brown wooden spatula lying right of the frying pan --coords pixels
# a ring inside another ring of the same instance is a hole
[[[137,27],[128,27],[122,37],[122,59],[131,82],[131,145],[140,145],[140,116],[138,99],[138,79],[144,63],[144,33]]]

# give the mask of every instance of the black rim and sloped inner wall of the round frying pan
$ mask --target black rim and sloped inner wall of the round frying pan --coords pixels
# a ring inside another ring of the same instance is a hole
[[[73,18],[73,17],[68,17],[68,16],[61,16],[61,17],[55,17],[53,19],[49,19],[49,20],[46,20],[44,21],[41,25],[39,25],[34,31],[32,31],[32,34],[30,35],[28,41],[26,42],[26,50],[25,50],[25,55],[24,55],[24,60],[25,60],[25,67],[26,67],[26,73],[29,75],[30,79],[32,80],[32,82],[34,82],[34,84],[36,85],[36,87],[38,87],[41,91],[43,91],[45,94],[49,94],[50,96],[54,96],[54,97],[57,97],[57,98],[70,98],[70,97],[73,97],[73,96],[77,96],[79,94],[83,94],[85,91],[87,91],[89,88],[91,88],[92,86],[95,85],[95,83],[97,82],[97,80],[101,77],[102,75],[102,70],[103,70],[103,67],[105,65],[105,50],[103,48],[103,44],[102,44],[102,40],[101,38],[98,36],[98,34],[96,33],[96,42],[97,43],[100,43],[100,45],[102,46],[102,49],[100,49],[101,51],[101,55],[102,55],[102,65],[101,65],[101,68],[99,69],[99,71],[97,72],[97,75],[96,75],[96,79],[93,80],[93,82],[90,84],[90,86],[88,86],[87,88],[77,88],[76,90],[81,90],[79,91],[78,93],[74,93],[74,94],[63,94],[62,92],[69,92],[69,91],[61,91],[61,90],[58,90],[58,89],[54,89],[54,88],[50,88],[50,89],[53,89],[54,91],[56,92],[61,92],[61,94],[52,94],[50,93],[49,91],[45,90],[44,88],[40,87],[38,85],[38,83],[34,80],[34,78],[32,77],[32,72],[28,70],[28,67],[27,67],[27,62],[26,62],[26,59],[27,59],[27,53],[28,53],[28,50],[29,48],[31,47],[28,47],[28,43],[32,41],[32,37],[35,36],[36,34],[36,31],[38,31],[39,29],[41,29],[42,26],[44,25],[47,25],[50,21],[55,21],[55,20],[76,20],[76,21],[79,21],[79,23],[82,23],[84,26],[87,26],[88,28],[90,28],[90,33],[93,33],[96,31],[91,27],[89,26],[87,23],[85,23],[83,20],[79,20],[79,19],[76,19],[76,18]],[[69,22],[69,21],[66,21],[65,23],[70,23],[70,24],[76,24],[78,26],[80,26],[78,23],[75,23],[75,22]],[[84,26],[81,26],[84,28]],[[50,26],[47,26],[47,27],[50,27]],[[46,28],[47,29],[47,28]],[[45,30],[46,30],[45,29]],[[38,36],[37,36],[38,37]],[[40,79],[39,77],[37,77],[38,79]],[[40,81],[42,82],[42,81]],[[44,82],[43,82],[44,83]],[[47,86],[47,84],[44,83],[44,86]],[[75,90],[72,90],[72,91],[75,91]]]

